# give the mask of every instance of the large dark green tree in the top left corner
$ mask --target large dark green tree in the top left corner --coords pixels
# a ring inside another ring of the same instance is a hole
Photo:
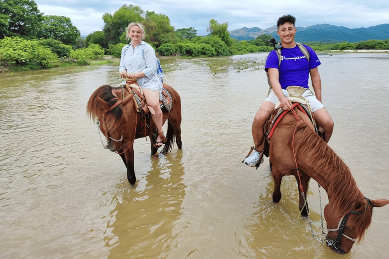
[[[38,10],[37,3],[32,0],[1,0],[0,14],[1,26],[7,26],[1,28],[0,38],[6,36],[35,38],[42,23],[42,13]]]

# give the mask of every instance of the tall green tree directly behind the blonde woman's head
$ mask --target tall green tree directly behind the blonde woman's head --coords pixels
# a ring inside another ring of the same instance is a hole
[[[108,44],[120,42],[121,35],[125,34],[126,27],[131,22],[143,22],[142,15],[144,10],[139,6],[123,5],[114,14],[105,13],[103,15],[104,27],[103,32]],[[123,37],[122,37],[123,39]],[[125,43],[125,42],[121,42]]]

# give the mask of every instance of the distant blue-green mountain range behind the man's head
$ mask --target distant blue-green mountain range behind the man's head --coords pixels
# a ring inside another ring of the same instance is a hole
[[[277,26],[262,30],[258,27],[241,28],[230,31],[230,37],[238,40],[252,40],[262,34],[271,34],[279,41]],[[386,40],[389,38],[389,24],[380,24],[368,28],[350,29],[331,24],[316,24],[297,27],[296,42],[360,42],[363,40]]]

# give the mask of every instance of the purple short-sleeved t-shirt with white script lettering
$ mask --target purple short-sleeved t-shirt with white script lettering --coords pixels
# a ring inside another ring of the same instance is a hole
[[[309,70],[316,68],[321,63],[315,51],[304,45],[309,52],[309,62],[304,56],[303,52],[296,46],[292,49],[281,49],[281,64],[278,67],[279,60],[275,50],[269,53],[266,59],[265,71],[268,68],[279,69],[279,81],[282,89],[291,85],[298,85],[301,87],[308,87]]]

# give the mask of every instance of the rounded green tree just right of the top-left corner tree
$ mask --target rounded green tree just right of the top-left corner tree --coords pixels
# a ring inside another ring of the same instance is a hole
[[[72,45],[80,37],[80,31],[65,16],[45,15],[37,34],[39,38],[53,38],[64,44]]]

